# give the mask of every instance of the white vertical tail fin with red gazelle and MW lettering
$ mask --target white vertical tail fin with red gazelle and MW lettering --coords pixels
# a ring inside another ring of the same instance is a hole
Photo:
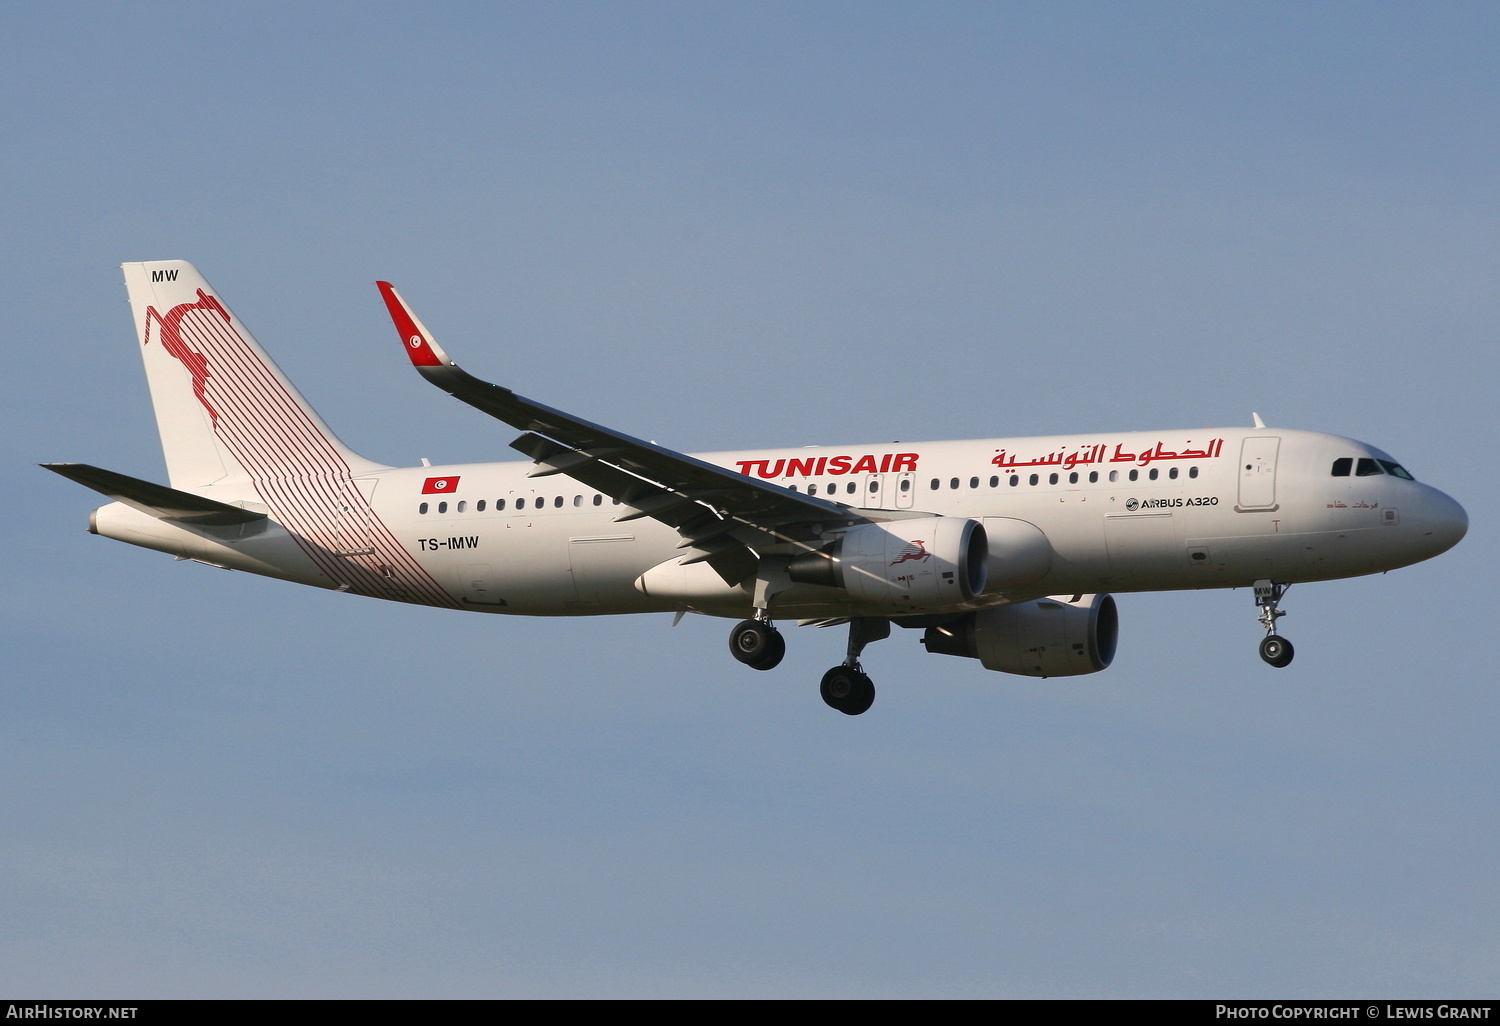
[[[380,470],[333,436],[192,264],[122,268],[172,488],[255,498]]]

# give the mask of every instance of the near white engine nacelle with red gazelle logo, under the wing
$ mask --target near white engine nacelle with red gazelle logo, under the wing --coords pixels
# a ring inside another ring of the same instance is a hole
[[[984,526],[957,516],[852,526],[826,549],[792,560],[798,584],[843,588],[855,602],[912,612],[952,608],[984,591]]]

